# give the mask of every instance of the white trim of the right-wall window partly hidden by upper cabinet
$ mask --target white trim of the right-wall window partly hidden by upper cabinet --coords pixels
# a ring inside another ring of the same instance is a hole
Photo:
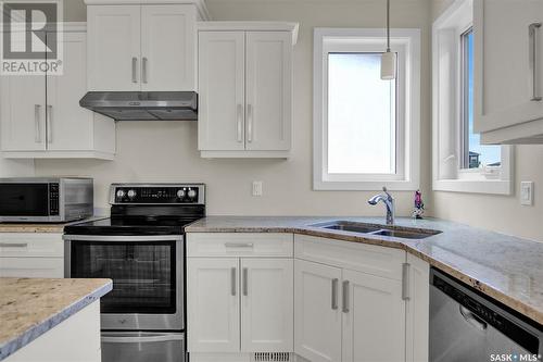
[[[435,191],[512,195],[513,146],[502,146],[498,168],[460,167],[460,35],[472,24],[472,0],[456,0],[432,26],[432,188]],[[454,68],[447,70],[440,63],[442,50],[454,58],[450,62]],[[443,79],[445,76],[452,80]],[[441,83],[446,90],[441,91]]]

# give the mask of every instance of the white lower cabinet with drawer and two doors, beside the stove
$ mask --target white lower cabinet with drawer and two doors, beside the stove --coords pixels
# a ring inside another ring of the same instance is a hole
[[[292,238],[188,234],[189,352],[293,352]]]

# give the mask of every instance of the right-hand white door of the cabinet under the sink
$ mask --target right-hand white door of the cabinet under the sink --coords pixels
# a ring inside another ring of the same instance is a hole
[[[342,294],[342,361],[404,361],[402,282],[343,270]]]

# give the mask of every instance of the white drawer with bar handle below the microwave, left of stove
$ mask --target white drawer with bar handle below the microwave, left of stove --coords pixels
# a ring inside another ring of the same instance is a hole
[[[62,234],[0,233],[2,257],[64,257]]]

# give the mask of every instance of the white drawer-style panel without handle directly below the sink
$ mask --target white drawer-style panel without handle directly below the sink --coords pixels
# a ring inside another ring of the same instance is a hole
[[[391,279],[402,278],[405,251],[374,245],[295,235],[294,257]]]

